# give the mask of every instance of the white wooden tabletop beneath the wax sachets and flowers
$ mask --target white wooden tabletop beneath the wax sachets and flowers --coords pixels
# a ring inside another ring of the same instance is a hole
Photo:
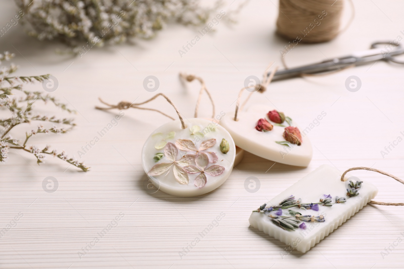
[[[16,8],[12,1],[2,1],[1,6],[0,25],[4,25]],[[299,44],[286,56],[288,65],[342,56],[367,49],[377,40],[403,37],[402,2],[365,0],[356,1],[355,6],[356,18],[346,32],[326,44]],[[0,48],[16,54],[19,75],[51,73],[57,77],[59,88],[52,94],[79,112],[74,116],[77,127],[70,133],[38,135],[31,143],[51,144],[78,156],[77,151],[118,113],[95,110],[98,97],[118,103],[146,100],[163,92],[185,117],[192,117],[199,85],[194,82],[184,89],[178,79],[180,71],[205,79],[217,111],[234,111],[244,79],[261,77],[271,60],[280,65],[279,50],[287,42],[274,35],[277,13],[269,1],[252,1],[240,13],[238,24],[219,23],[215,33],[205,35],[182,58],[178,50],[194,38],[198,27],[170,25],[151,41],[93,48],[82,58],[71,58],[55,54],[57,44],[29,38],[17,25],[0,38]],[[368,205],[305,254],[288,254],[284,244],[249,227],[248,217],[257,206],[322,164],[341,172],[355,166],[375,167],[404,178],[404,142],[385,158],[381,156],[389,142],[403,137],[403,71],[377,63],[324,77],[272,83],[264,93],[266,98],[257,93],[249,104],[272,103],[303,127],[326,112],[308,134],[314,146],[311,164],[291,167],[246,153],[225,184],[200,197],[150,194],[145,188],[143,142],[170,120],[153,112],[124,111],[119,124],[82,156],[91,167],[87,173],[53,158],[38,166],[30,154],[11,151],[9,161],[0,165],[0,230],[20,212],[23,217],[0,238],[0,268],[402,268],[404,243],[390,247],[384,259],[381,251],[399,237],[404,239],[400,234],[404,232],[403,207]],[[148,75],[160,81],[155,93],[143,89]],[[362,81],[358,92],[345,88],[350,75]],[[34,84],[27,89],[42,87]],[[204,97],[202,103],[200,114],[208,117],[208,99]],[[150,107],[175,115],[163,100]],[[48,115],[68,116],[51,104],[35,108]],[[16,128],[13,136],[21,138],[24,130]],[[402,202],[404,186],[398,182],[372,172],[354,174],[378,186],[376,200]],[[42,189],[48,176],[57,179],[56,192]],[[259,179],[258,192],[244,189],[250,176]],[[200,237],[198,233],[221,212],[225,217],[219,225]],[[98,234],[119,214],[123,217],[101,238]],[[96,237],[99,242],[93,243]],[[196,237],[200,242],[181,257],[179,252]]]

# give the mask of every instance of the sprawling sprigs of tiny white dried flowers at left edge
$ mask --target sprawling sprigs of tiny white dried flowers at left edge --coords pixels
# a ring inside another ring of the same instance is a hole
[[[0,54],[0,65],[2,61],[10,60],[13,58],[13,56],[14,54],[9,52]],[[86,167],[86,165],[84,165],[82,162],[78,162],[76,158],[67,156],[64,151],[58,153],[56,150],[49,150],[50,146],[46,146],[42,150],[36,146],[27,146],[29,138],[37,133],[66,133],[76,125],[73,122],[73,119],[57,119],[55,116],[47,117],[33,115],[32,104],[34,104],[34,102],[38,100],[42,100],[44,102],[50,101],[55,104],[55,106],[69,113],[74,113],[75,111],[67,108],[65,104],[59,103],[53,96],[49,96],[48,94],[42,95],[41,92],[29,92],[22,90],[23,83],[35,81],[42,82],[44,79],[48,79],[49,75],[30,77],[12,76],[11,74],[16,70],[17,67],[13,64],[11,64],[9,67],[0,67],[0,109],[4,111],[4,108],[6,108],[11,114],[9,115],[10,117],[6,119],[0,119],[0,126],[2,126],[0,130],[0,162],[4,163],[8,159],[8,150],[10,148],[14,148],[16,150],[19,149],[32,153],[36,157],[38,165],[44,162],[45,154],[48,154],[66,161],[67,163],[82,169],[84,172],[88,171],[89,167]],[[19,91],[22,96],[11,98],[11,95],[14,95],[14,90]],[[53,125],[51,128],[45,128],[43,125],[39,125],[37,129],[33,129],[30,132],[25,132],[25,140],[22,144],[20,141],[15,140],[8,135],[8,132],[11,131],[13,127],[22,123],[30,123],[31,121],[59,123],[69,125],[69,128],[58,128],[55,125]]]

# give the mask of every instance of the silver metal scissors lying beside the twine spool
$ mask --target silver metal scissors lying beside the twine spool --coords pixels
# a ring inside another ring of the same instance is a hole
[[[380,45],[385,45],[381,47]],[[339,58],[332,58],[322,61],[321,63],[314,63],[295,67],[291,69],[284,69],[276,71],[272,81],[290,79],[293,77],[301,77],[304,74],[316,74],[329,71],[342,70],[350,66],[360,66],[384,60],[404,65],[404,61],[400,61],[395,56],[404,54],[404,48],[398,43],[393,42],[375,42],[370,46],[370,50],[354,52],[351,55]],[[271,75],[271,72],[268,74]]]

